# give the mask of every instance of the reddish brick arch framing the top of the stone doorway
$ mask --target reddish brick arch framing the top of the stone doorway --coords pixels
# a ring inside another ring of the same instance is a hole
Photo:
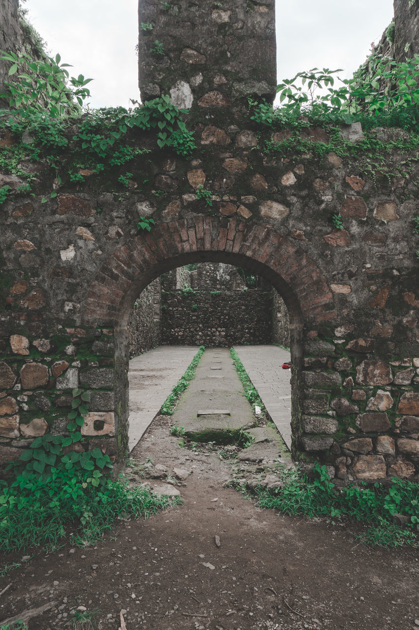
[[[324,275],[294,241],[272,226],[196,216],[162,222],[115,249],[89,286],[84,321],[125,328],[142,289],[161,273],[193,261],[230,263],[263,275],[298,328],[336,316]]]

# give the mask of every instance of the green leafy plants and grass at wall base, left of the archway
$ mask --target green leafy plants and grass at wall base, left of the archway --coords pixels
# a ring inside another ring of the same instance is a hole
[[[99,449],[98,449],[99,450]],[[0,549],[18,551],[46,546],[56,549],[71,525],[71,544],[91,544],[112,528],[118,516],[147,518],[173,505],[168,497],[130,488],[120,477],[90,483],[93,473],[60,464],[49,476],[18,476],[0,491]],[[175,502],[176,503],[176,502]],[[74,529],[76,528],[76,529]]]

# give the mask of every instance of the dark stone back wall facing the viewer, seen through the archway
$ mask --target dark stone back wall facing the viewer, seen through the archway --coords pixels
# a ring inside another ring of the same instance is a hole
[[[162,343],[231,347],[271,343],[272,292],[259,289],[163,292]]]

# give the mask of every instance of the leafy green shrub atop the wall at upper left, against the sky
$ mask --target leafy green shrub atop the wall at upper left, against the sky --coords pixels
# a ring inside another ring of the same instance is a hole
[[[9,62],[9,77],[16,74],[16,81],[6,83],[8,93],[0,96],[9,98],[9,105],[15,113],[25,117],[28,113],[47,111],[50,117],[79,111],[83,101],[90,95],[86,85],[92,79],[83,74],[70,77],[67,67],[60,64],[60,55],[35,60],[27,54],[20,56],[13,52],[1,51],[0,60]]]

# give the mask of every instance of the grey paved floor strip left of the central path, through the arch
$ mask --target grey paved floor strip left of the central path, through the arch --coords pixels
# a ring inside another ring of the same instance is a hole
[[[130,451],[134,449],[197,352],[198,346],[160,346],[130,360]]]

